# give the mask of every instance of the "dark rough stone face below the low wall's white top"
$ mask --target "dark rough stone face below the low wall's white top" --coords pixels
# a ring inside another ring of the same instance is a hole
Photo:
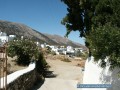
[[[30,90],[35,84],[37,77],[36,71],[32,70],[20,76],[7,86],[7,90]]]

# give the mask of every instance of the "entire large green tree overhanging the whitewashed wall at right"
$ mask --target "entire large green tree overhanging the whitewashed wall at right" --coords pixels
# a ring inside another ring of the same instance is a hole
[[[86,38],[86,46],[96,60],[105,66],[120,67],[120,0],[61,0],[68,13],[61,21],[71,31]]]

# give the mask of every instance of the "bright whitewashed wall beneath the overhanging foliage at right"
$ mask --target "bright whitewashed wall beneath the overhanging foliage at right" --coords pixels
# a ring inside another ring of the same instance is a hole
[[[119,68],[109,70],[109,63],[106,68],[101,68],[99,62],[95,63],[94,58],[88,58],[85,64],[83,84],[112,84],[112,88],[84,88],[82,90],[120,90]]]

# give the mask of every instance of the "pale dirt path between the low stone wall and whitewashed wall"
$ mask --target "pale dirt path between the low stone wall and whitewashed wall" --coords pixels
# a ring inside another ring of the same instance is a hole
[[[45,78],[44,84],[37,90],[80,90],[77,83],[82,83],[81,67],[76,66],[77,61],[63,62],[49,60],[50,71],[56,75],[54,78]]]

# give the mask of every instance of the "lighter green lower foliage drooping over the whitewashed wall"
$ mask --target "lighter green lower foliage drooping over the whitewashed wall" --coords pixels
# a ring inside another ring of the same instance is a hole
[[[95,60],[101,59],[101,66],[105,66],[105,58],[111,63],[111,68],[120,67],[120,28],[111,24],[100,26],[92,30],[87,38]]]

